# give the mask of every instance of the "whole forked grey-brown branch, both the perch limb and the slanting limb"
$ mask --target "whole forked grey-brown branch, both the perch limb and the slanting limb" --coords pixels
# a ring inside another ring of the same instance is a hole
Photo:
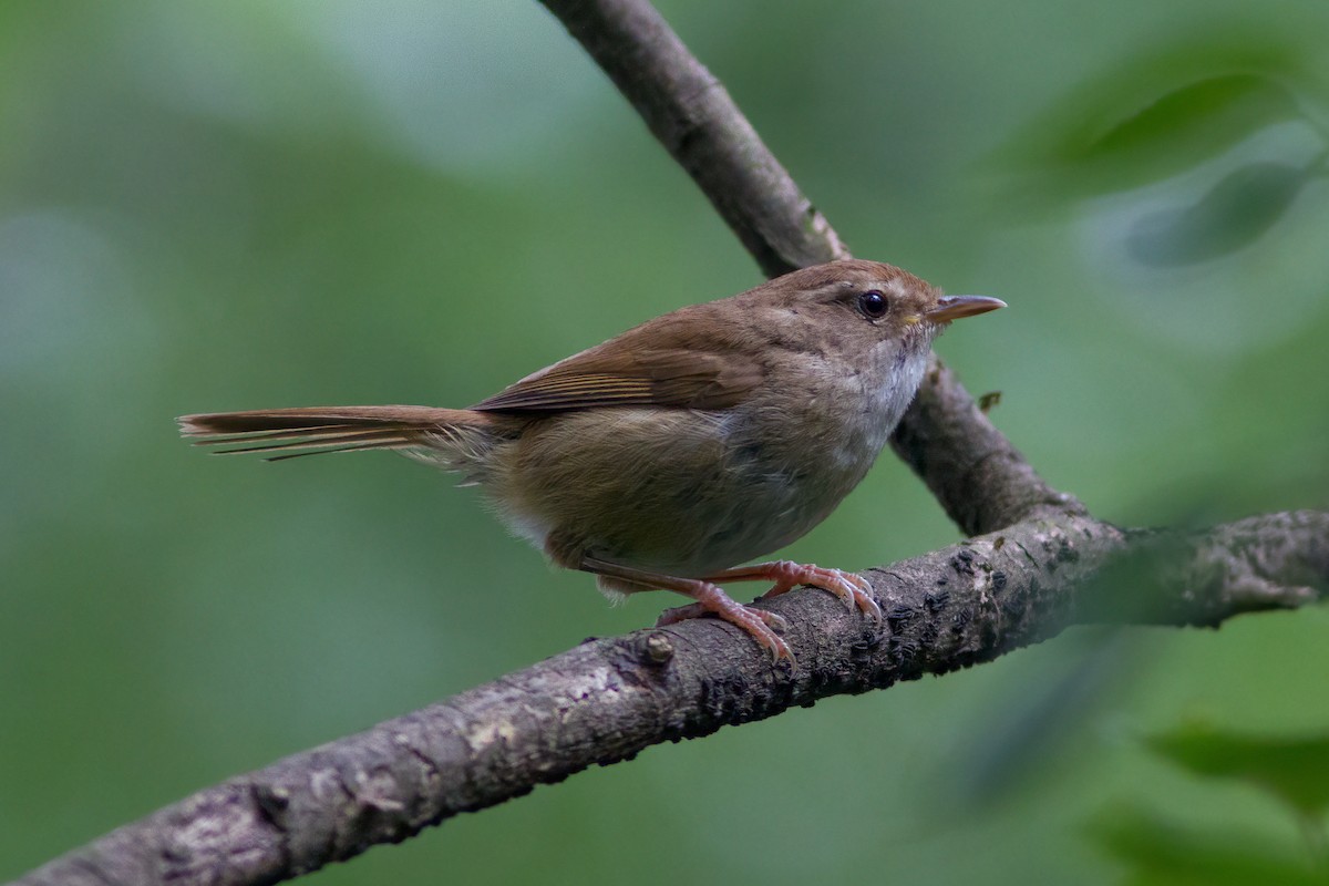
[[[545,0],[767,274],[844,258],[720,85],[642,0]],[[946,673],[1090,622],[1217,624],[1329,592],[1329,514],[1122,530],[1049,487],[934,364],[893,440],[979,538],[868,576],[885,624],[804,590],[766,603],[797,671],[694,620],[591,640],[489,685],[202,790],[20,879],[274,883],[662,741]],[[1001,529],[1005,527],[1005,529]],[[999,531],[991,531],[998,530]]]

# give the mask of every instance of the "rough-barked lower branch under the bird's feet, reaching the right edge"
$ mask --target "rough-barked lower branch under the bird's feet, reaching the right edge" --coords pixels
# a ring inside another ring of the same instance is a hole
[[[1111,576],[1152,575],[1160,553],[1168,571],[1148,586],[1150,606],[1119,594]],[[956,671],[1067,624],[1216,624],[1301,606],[1329,592],[1329,514],[1257,517],[1199,534],[1126,533],[1067,514],[868,576],[886,612],[880,632],[823,591],[768,603],[789,622],[785,639],[801,663],[792,675],[718,620],[587,640],[202,790],[19,883],[274,883],[653,744]]]

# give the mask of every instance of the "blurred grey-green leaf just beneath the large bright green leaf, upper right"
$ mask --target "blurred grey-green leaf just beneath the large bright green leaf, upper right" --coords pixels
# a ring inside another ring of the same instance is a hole
[[[1151,267],[1195,264],[1235,252],[1282,218],[1308,174],[1290,163],[1241,166],[1191,206],[1140,218],[1126,248]]]

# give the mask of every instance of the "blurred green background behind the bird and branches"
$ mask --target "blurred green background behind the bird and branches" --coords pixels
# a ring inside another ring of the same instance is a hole
[[[1124,525],[1329,506],[1329,4],[661,8],[856,254],[1010,303],[938,351],[1053,484]],[[9,0],[0,132],[0,879],[675,603],[609,607],[403,458],[171,421],[460,406],[759,280],[541,7]],[[956,539],[888,453],[788,555]],[[1329,731],[1326,632],[1074,630],[308,882],[1111,883],[1088,822],[1139,808],[1296,857],[1140,737]]]

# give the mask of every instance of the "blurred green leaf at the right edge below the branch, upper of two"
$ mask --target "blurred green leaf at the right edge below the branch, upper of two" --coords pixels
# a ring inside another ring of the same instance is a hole
[[[1263,788],[1302,816],[1329,806],[1329,736],[1260,737],[1184,725],[1147,744],[1195,774]]]

